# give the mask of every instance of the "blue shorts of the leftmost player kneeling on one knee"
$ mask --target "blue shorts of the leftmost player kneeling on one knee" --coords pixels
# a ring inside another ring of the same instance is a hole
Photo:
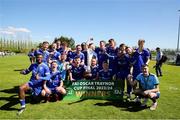
[[[29,87],[32,90],[32,95],[39,96],[41,94],[42,83],[40,83],[40,82],[37,83],[37,82],[29,81],[28,85],[29,85]]]

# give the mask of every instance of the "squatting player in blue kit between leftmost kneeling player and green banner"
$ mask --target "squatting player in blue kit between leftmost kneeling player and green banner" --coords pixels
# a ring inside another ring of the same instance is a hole
[[[61,80],[61,74],[58,71],[58,64],[56,61],[51,63],[51,77],[49,80],[44,81],[42,96],[47,97],[50,100],[50,95],[54,94],[56,100],[59,99],[60,95],[65,95],[66,90],[63,88],[63,81]]]

